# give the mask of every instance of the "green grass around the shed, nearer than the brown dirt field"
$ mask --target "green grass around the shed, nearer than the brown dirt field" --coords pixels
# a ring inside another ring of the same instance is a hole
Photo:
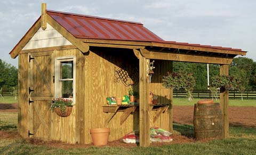
[[[17,113],[0,112],[0,130],[17,129]],[[2,126],[5,126],[3,128]],[[6,127],[10,126],[10,128]],[[174,124],[175,134],[193,135],[192,125]],[[230,127],[230,138],[210,142],[150,146],[149,148],[102,148],[57,149],[45,145],[33,145],[21,138],[0,139],[0,154],[256,154],[256,129]]]

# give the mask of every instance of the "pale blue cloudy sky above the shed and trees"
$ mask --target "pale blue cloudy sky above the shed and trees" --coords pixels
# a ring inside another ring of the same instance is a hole
[[[1,59],[18,66],[9,52],[47,9],[142,22],[165,40],[242,48],[256,61],[256,1],[130,0],[0,2]]]

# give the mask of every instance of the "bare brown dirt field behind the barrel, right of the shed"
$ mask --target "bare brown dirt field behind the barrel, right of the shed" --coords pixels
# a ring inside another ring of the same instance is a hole
[[[229,107],[229,125],[256,128],[256,107]],[[174,106],[173,121],[193,124],[194,106]]]

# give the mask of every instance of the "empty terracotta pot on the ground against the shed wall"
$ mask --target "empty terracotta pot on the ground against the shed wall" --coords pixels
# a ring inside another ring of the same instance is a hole
[[[108,144],[109,128],[90,129],[92,142],[94,146],[102,146]]]

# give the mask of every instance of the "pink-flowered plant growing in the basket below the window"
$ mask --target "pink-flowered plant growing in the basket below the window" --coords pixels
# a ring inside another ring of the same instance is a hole
[[[73,101],[63,98],[57,98],[52,101],[51,110],[53,111],[54,108],[60,108],[61,112],[65,112],[65,106],[71,107]]]

